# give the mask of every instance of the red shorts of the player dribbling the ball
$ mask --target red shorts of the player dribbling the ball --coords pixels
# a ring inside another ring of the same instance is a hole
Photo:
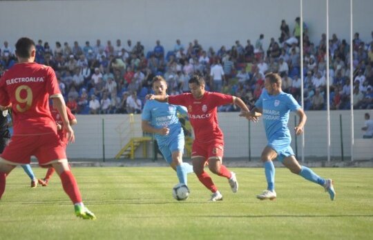
[[[211,158],[222,159],[224,154],[224,142],[212,141],[211,143],[198,143],[193,141],[191,158],[203,157],[205,160]]]

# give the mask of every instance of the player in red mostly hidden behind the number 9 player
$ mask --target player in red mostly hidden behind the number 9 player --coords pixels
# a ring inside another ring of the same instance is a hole
[[[57,125],[57,134],[59,136],[59,141],[61,141],[62,144],[64,144],[65,151],[66,147],[68,145],[68,139],[66,132],[64,131],[64,123],[61,121],[61,116],[59,115],[59,112],[54,106],[50,107],[50,113],[52,114],[53,119],[55,119],[56,125]],[[70,123],[70,126],[74,126],[77,124],[77,119],[75,118],[74,114],[71,112],[70,108],[66,106],[66,113],[68,115],[68,121]],[[44,179],[38,179],[39,184],[41,186],[46,187],[48,186],[48,181],[50,177],[52,177],[52,174],[55,173],[55,168],[50,167],[48,168],[48,171],[46,172],[46,177]]]

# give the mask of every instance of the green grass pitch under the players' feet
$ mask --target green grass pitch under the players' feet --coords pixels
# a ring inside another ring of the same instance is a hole
[[[323,188],[276,170],[276,201],[259,201],[260,168],[231,168],[240,189],[212,175],[224,201],[189,175],[191,196],[175,201],[171,168],[73,168],[96,221],[77,219],[59,178],[30,188],[21,168],[0,201],[0,239],[373,239],[373,168],[315,168],[334,179],[336,200]],[[46,170],[34,169],[37,177]]]

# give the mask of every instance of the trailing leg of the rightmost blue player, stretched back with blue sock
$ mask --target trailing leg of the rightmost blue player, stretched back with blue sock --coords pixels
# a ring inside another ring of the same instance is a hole
[[[289,168],[289,170],[294,174],[298,174],[303,178],[307,179],[308,181],[317,183],[318,185],[325,188],[325,191],[329,193],[330,199],[332,199],[332,201],[334,200],[336,192],[334,191],[332,179],[324,179],[318,176],[318,174],[316,174],[312,169],[307,168],[305,166],[300,166],[294,155],[285,157],[283,159],[283,164],[285,167]]]

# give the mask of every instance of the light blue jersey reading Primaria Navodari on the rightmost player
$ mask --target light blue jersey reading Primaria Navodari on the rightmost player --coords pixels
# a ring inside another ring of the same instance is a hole
[[[269,95],[267,90],[263,89],[255,106],[262,108],[262,119],[268,141],[282,139],[290,143],[291,135],[287,123],[290,110],[295,111],[300,108],[296,99],[285,92]]]

